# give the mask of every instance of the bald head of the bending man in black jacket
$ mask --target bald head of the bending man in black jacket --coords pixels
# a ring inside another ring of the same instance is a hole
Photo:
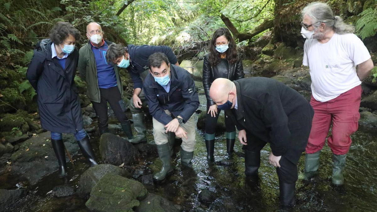
[[[237,98],[236,86],[226,78],[217,78],[211,84],[210,97],[217,105],[224,104],[229,100],[233,103],[233,108],[235,104],[233,100]]]

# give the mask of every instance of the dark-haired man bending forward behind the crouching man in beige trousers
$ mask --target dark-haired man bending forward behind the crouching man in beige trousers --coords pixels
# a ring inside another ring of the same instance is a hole
[[[143,80],[148,75],[147,59],[155,52],[162,52],[167,55],[171,64],[178,66],[178,60],[169,46],[134,46],[128,45],[126,48],[121,44],[109,46],[106,54],[107,61],[114,63],[120,68],[126,68],[131,75],[133,82],[133,96],[130,101],[130,111],[132,112],[133,127],[138,134],[129,140],[131,143],[146,142],[146,126],[144,121],[143,107],[147,106],[143,88]],[[174,138],[170,138],[174,140]]]

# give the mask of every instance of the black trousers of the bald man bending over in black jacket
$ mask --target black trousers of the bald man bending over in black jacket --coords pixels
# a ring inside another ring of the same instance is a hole
[[[263,147],[267,144],[267,142],[260,140],[254,136],[247,135],[247,145],[244,145],[242,149],[247,149],[248,151],[252,152],[259,152],[263,149]],[[301,155],[301,153],[300,153]],[[283,181],[284,183],[295,183],[298,178],[298,171],[297,171],[297,164],[292,163],[291,161],[287,160],[284,155],[282,155],[280,161],[280,168],[276,167],[277,176],[279,180]]]

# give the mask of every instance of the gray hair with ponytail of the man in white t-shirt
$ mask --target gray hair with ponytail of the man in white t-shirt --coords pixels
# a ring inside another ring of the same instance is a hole
[[[322,22],[326,23],[326,26],[333,29],[337,34],[349,34],[355,32],[355,27],[351,24],[346,24],[343,22],[343,18],[340,16],[335,16],[330,6],[322,2],[312,2],[305,6],[301,11],[302,18],[308,15],[312,18],[312,24],[318,27]]]

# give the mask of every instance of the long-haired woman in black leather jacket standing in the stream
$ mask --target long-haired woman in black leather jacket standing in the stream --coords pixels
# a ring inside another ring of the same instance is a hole
[[[221,108],[218,108],[210,97],[210,87],[216,78],[227,78],[231,81],[244,78],[242,60],[238,59],[236,43],[227,28],[215,31],[209,44],[209,54],[204,56],[203,86],[207,97],[207,115],[205,119],[205,146],[207,160],[214,161],[215,129]],[[236,138],[236,128],[225,113],[225,127],[227,131],[227,152],[233,152]]]

